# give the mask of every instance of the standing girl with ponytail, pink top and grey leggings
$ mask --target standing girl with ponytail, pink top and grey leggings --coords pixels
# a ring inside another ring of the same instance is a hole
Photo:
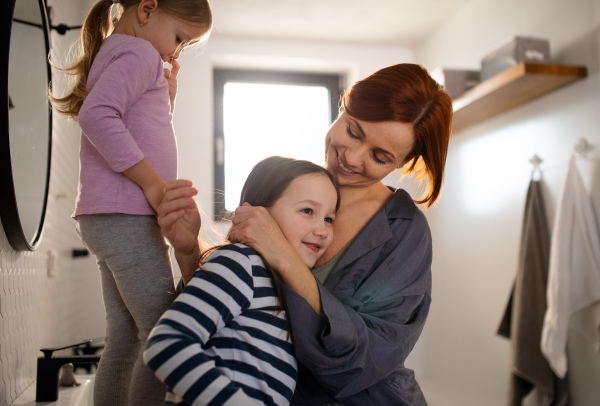
[[[113,30],[115,3],[121,7]],[[155,210],[165,181],[177,177],[176,59],[211,27],[206,0],[100,0],[83,24],[81,55],[66,69],[73,89],[50,97],[82,129],[73,218],[97,258],[107,319],[96,406],[164,402],[164,385],[142,360],[174,290]]]

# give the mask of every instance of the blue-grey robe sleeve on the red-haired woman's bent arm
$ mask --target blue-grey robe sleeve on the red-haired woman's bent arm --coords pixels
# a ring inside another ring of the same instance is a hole
[[[412,201],[406,204],[413,207]],[[398,371],[429,312],[431,253],[420,211],[382,214],[350,247],[326,286],[319,283],[325,319],[287,290],[298,361],[330,397],[344,404],[425,404],[414,376]],[[387,385],[388,379],[395,380]]]

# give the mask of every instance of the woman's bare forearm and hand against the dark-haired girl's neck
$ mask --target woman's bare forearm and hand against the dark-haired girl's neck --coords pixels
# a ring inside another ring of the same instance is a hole
[[[303,297],[317,314],[325,317],[317,281],[264,207],[252,207],[248,203],[238,207],[232,219],[229,239],[258,251],[290,290]]]

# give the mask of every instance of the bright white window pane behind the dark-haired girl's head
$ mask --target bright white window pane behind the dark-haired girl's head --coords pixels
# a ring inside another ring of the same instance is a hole
[[[261,159],[281,155],[325,163],[330,96],[322,86],[226,83],[225,207],[238,206],[242,186]]]

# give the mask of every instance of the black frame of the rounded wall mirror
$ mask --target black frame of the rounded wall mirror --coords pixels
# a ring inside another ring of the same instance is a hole
[[[3,0],[0,2],[0,95],[5,95],[0,97],[0,218],[2,219],[2,226],[10,245],[17,251],[33,251],[38,247],[41,241],[44,220],[46,217],[46,207],[48,204],[50,163],[52,156],[52,109],[48,106],[48,165],[46,168],[44,202],[37,231],[30,241],[23,232],[19,217],[10,154],[8,64],[10,58],[12,19],[16,1],[17,0]],[[45,0],[38,0],[38,3],[40,5],[40,14],[42,18],[42,27],[40,28],[44,33],[46,55],[48,55],[50,53],[50,34],[46,2]],[[48,82],[50,82],[52,72],[48,59],[46,59],[46,69],[48,72]]]

